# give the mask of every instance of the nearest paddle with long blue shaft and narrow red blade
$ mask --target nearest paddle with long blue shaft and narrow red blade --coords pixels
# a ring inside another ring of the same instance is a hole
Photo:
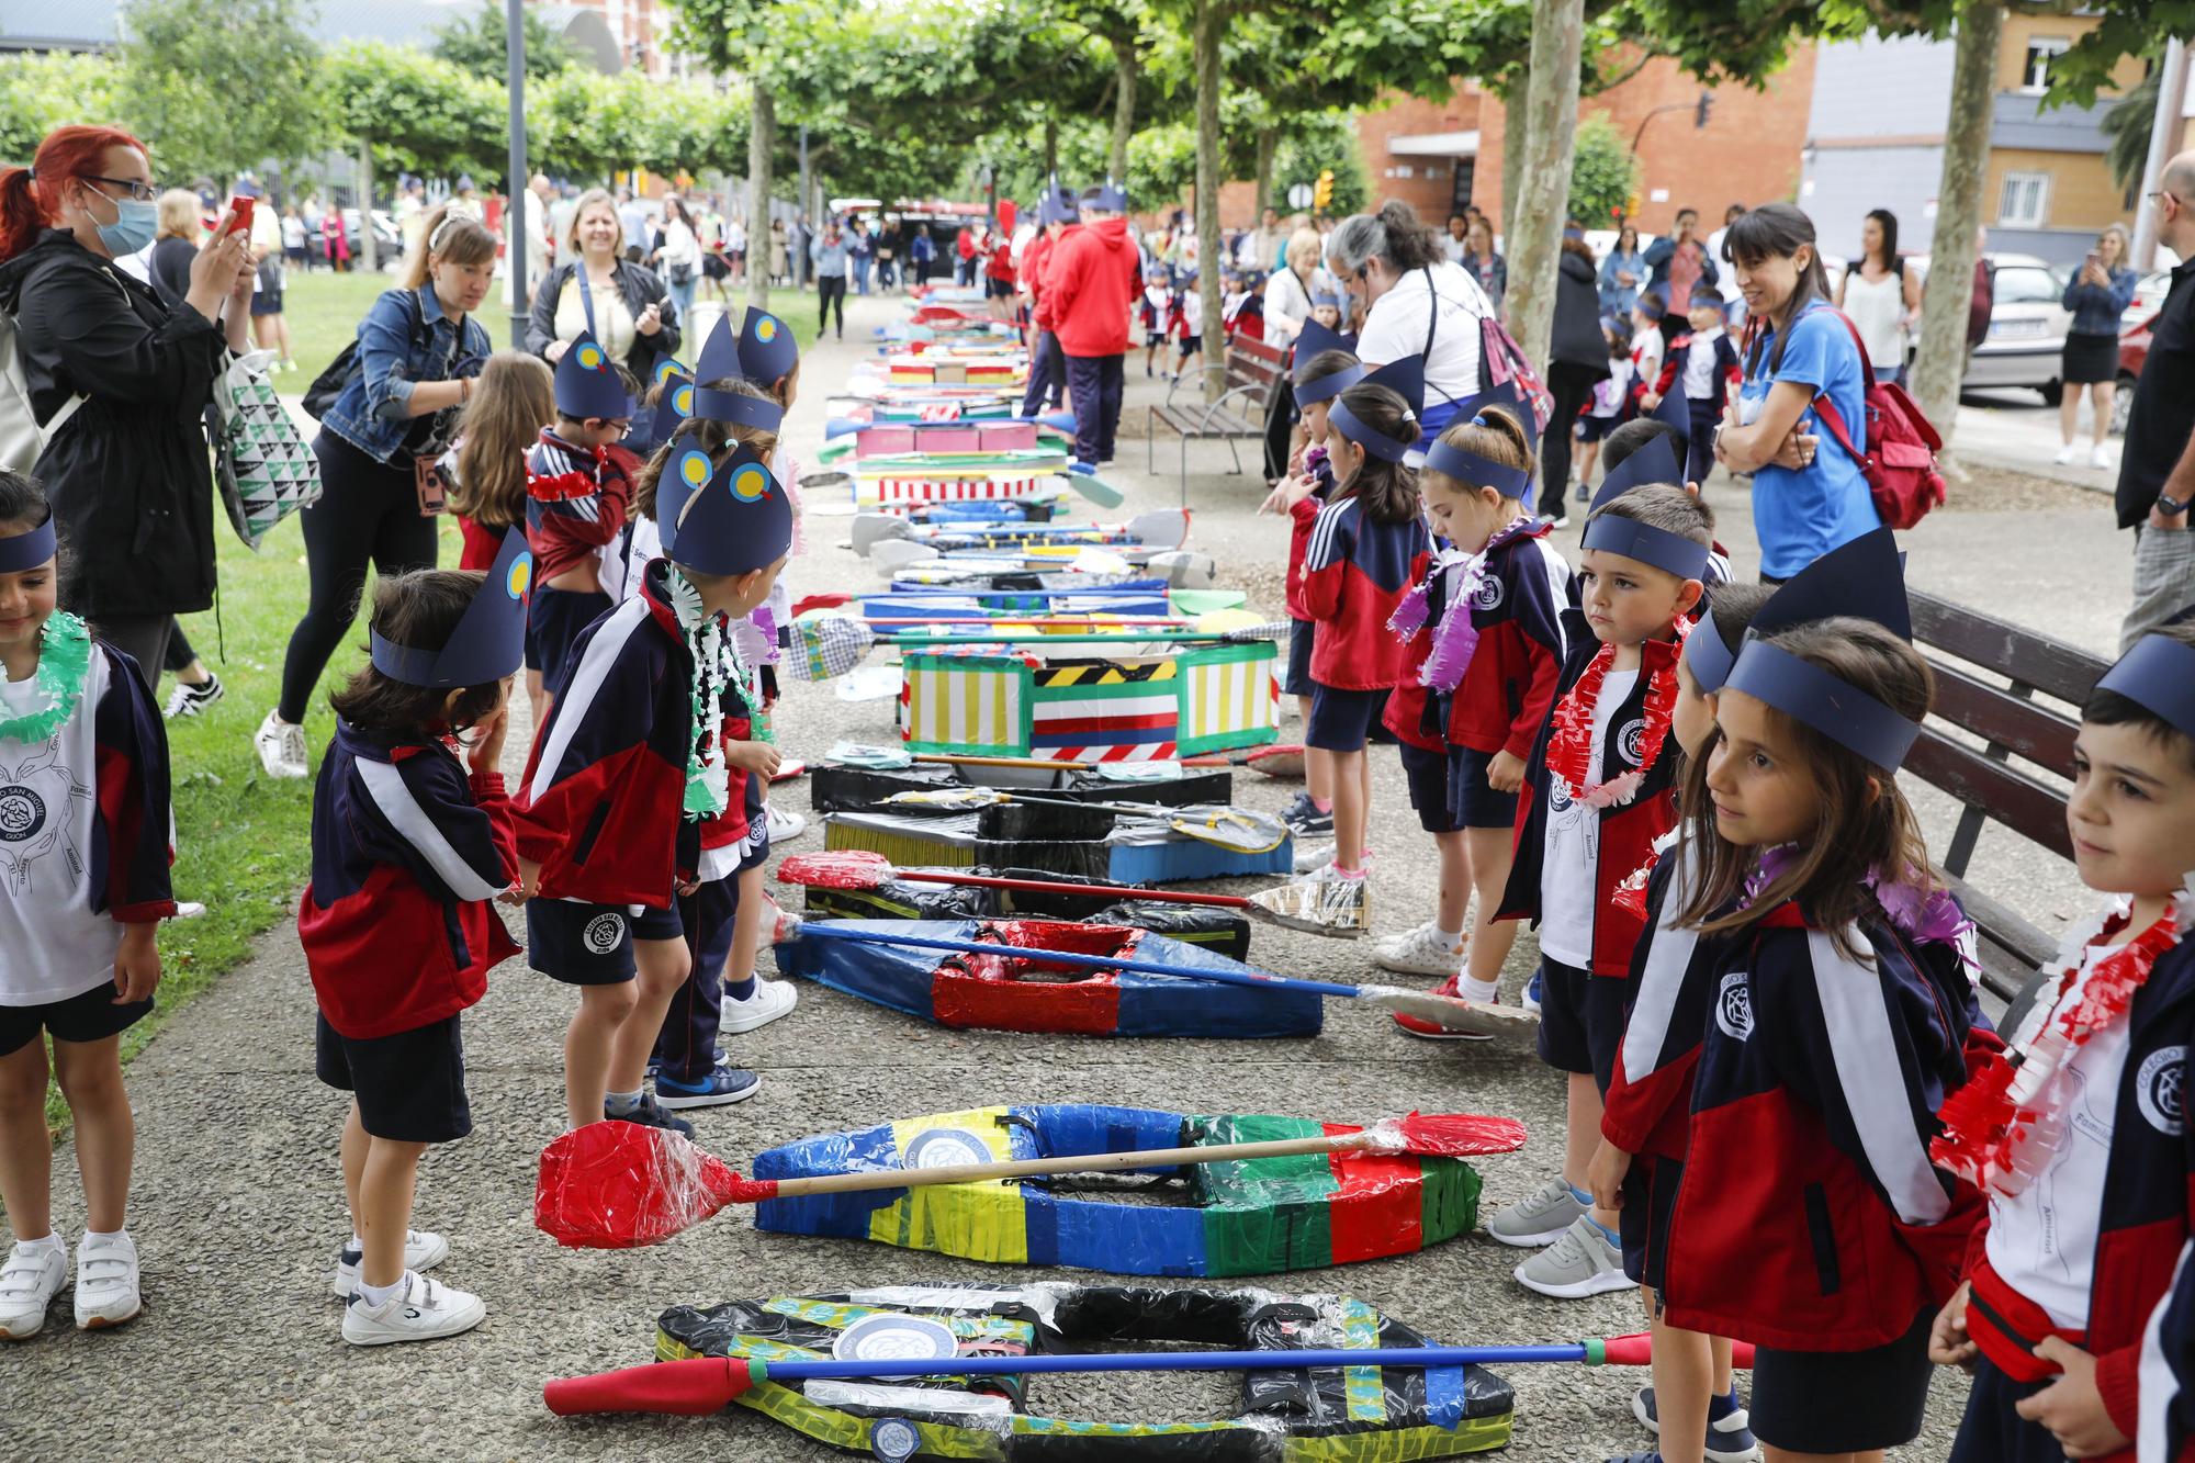
[[[950,1355],[891,1360],[764,1362],[738,1355],[698,1355],[676,1362],[623,1366],[590,1377],[558,1377],[542,1386],[542,1401],[558,1417],[588,1412],[665,1412],[707,1417],[764,1382],[819,1382],[823,1377],[999,1377],[1060,1371],[1304,1371],[1310,1366],[1646,1366],[1653,1338],[1600,1336],[1550,1347],[1304,1347],[1302,1351],[1098,1351],[1082,1355]],[[1732,1347],[1732,1366],[1752,1366],[1754,1349]]]

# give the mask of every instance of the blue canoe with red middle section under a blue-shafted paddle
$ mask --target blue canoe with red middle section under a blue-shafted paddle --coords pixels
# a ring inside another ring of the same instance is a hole
[[[1126,925],[1058,920],[847,920],[847,929],[939,940],[994,938],[1023,949],[1249,971],[1240,960]],[[986,934],[988,931],[988,934]],[[1302,991],[1231,986],[1141,971],[1091,971],[1021,956],[907,945],[788,940],[777,969],[939,1026],[1073,1037],[1317,1037],[1326,1002]]]

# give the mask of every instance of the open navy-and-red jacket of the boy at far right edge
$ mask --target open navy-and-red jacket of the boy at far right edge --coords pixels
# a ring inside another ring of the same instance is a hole
[[[2061,1257],[2074,1274],[2087,1272],[2087,1329],[2055,1327],[2048,1311],[1991,1270],[1984,1243],[1991,1226],[2008,1217],[1991,1206],[1969,1254],[1967,1333],[2011,1386],[1997,1388],[2000,1406],[1991,1408],[1997,1417],[1982,1419],[1969,1408],[1954,1456],[2013,1456],[2019,1434],[2030,1434],[2026,1441],[2035,1448],[2050,1445],[2048,1432],[2011,1412],[2017,1395],[2057,1375],[2057,1366],[2030,1355],[2046,1336],[2061,1336],[2096,1358],[2096,1391],[2112,1421],[2127,1437],[2136,1434],[2142,1329],[2173,1287],[2180,1252],[2195,1232],[2195,1140],[2180,1096],[2195,1041],[2195,949],[2188,942],[2158,956],[2123,1019],[2129,1021],[2127,1057],[2114,1101],[2096,1250]],[[2065,1142],[2074,1140],[2068,1133]],[[2166,1456],[2195,1456],[2195,1450],[2182,1445]],[[2109,1459],[2131,1463],[2134,1454]]]

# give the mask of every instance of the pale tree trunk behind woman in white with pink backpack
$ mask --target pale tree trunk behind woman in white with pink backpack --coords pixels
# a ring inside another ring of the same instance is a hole
[[[1585,0],[1532,0],[1532,97],[1526,103],[1517,224],[1508,231],[1508,323],[1523,358],[1545,369],[1554,334],[1569,165],[1578,134],[1578,51]],[[1986,125],[1986,123],[1984,123]]]

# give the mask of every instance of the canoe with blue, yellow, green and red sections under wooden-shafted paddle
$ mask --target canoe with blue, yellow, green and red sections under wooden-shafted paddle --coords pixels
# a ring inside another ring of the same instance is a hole
[[[1275,1142],[1361,1129],[1262,1114],[1043,1103],[979,1107],[801,1138],[755,1155],[755,1177]],[[1135,1195],[1119,1204],[1108,1197]],[[1152,1202],[1170,1195],[1174,1202]],[[1365,1151],[1253,1158],[1062,1180],[924,1184],[768,1199],[755,1228],[874,1239],[994,1265],[1240,1276],[1414,1254],[1477,1224],[1479,1175],[1460,1158]]]

